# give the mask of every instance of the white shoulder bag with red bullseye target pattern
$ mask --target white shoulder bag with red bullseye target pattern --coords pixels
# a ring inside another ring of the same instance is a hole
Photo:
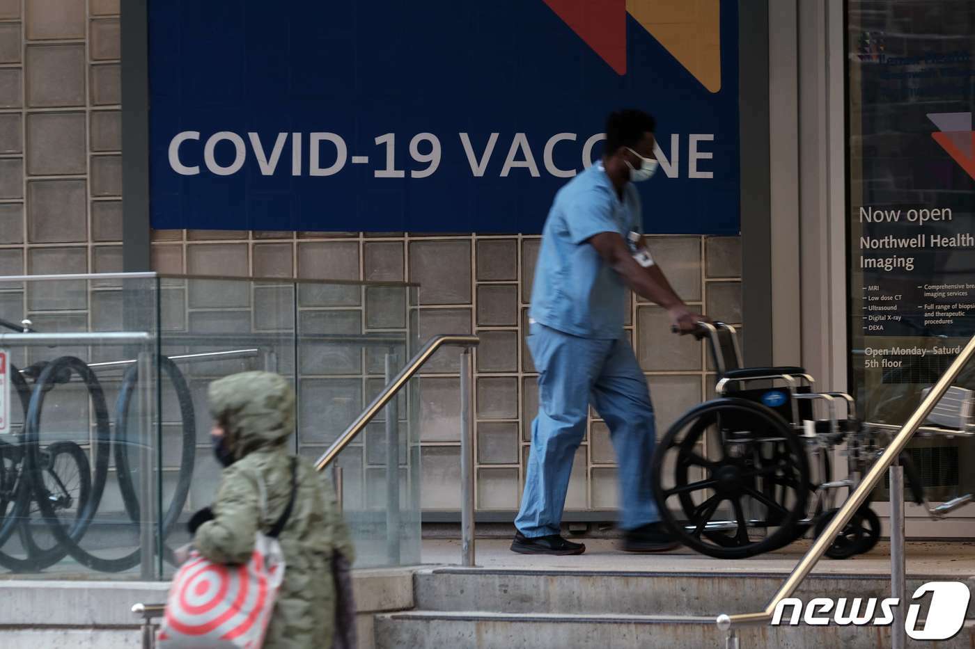
[[[294,479],[292,474],[288,508],[270,532],[257,531],[254,554],[246,564],[224,565],[195,550],[190,553],[170,586],[159,649],[257,649],[263,644],[285,579],[285,556],[277,537],[292,513]],[[259,487],[263,512],[263,484]]]

